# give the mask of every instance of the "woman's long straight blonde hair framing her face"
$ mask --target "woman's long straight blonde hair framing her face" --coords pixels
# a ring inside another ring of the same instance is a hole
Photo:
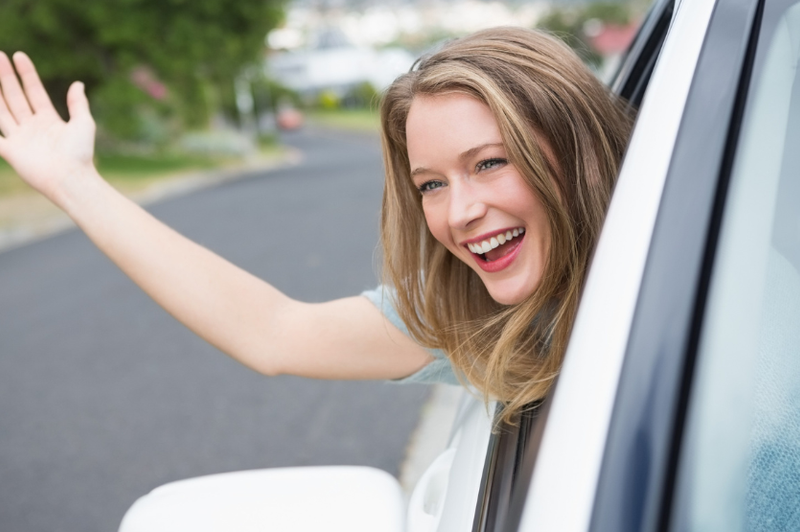
[[[522,303],[495,302],[428,231],[410,177],[406,119],[415,96],[447,93],[489,107],[509,161],[547,213],[547,262]],[[544,397],[561,366],[630,113],[561,41],[495,28],[446,44],[398,78],[383,96],[381,124],[384,281],[396,288],[412,337],[444,350],[460,379],[503,401],[508,421]]]

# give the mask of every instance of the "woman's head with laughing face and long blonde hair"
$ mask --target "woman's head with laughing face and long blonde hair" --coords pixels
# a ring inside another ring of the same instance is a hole
[[[381,112],[397,311],[509,421],[561,366],[630,113],[563,43],[518,28],[422,59]]]

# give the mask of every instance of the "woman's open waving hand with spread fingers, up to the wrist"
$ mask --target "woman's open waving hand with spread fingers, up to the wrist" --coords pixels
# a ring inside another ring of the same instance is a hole
[[[14,66],[0,52],[0,157],[29,185],[55,200],[61,187],[92,170],[95,124],[83,84],[67,93],[69,122],[53,107],[33,62],[22,52]]]

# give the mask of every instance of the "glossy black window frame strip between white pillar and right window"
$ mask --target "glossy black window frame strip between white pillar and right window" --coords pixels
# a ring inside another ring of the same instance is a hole
[[[719,0],[667,173],[590,531],[666,531],[689,385],[762,0]]]

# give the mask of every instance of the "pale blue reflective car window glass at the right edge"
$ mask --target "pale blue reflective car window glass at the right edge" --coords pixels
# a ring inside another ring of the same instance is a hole
[[[671,529],[800,530],[800,3],[764,7]]]

